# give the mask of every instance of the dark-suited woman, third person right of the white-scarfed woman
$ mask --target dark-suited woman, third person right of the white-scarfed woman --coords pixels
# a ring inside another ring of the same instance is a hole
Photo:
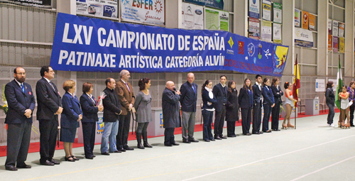
[[[244,79],[244,85],[241,87],[238,96],[239,105],[241,107],[241,127],[243,134],[250,136],[251,109],[253,108],[253,90],[251,89],[251,81],[249,78]]]

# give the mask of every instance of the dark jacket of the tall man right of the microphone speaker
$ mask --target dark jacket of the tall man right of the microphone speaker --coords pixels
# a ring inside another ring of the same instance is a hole
[[[195,88],[195,92],[192,86]],[[190,82],[187,81],[180,87],[180,92],[181,110],[185,112],[196,112],[197,84],[190,84]]]

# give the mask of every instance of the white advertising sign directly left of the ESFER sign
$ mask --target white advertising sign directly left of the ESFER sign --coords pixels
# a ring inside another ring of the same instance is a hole
[[[80,0],[77,1],[77,14],[87,16],[117,18],[117,1],[95,1],[95,0]]]

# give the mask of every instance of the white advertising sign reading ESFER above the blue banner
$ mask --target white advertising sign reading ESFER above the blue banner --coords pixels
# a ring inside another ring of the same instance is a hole
[[[121,0],[121,19],[163,25],[165,23],[164,0]]]

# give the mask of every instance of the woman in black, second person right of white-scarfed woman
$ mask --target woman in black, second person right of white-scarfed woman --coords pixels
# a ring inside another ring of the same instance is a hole
[[[239,120],[239,102],[236,82],[233,80],[228,82],[226,99],[226,136],[236,137],[236,121]]]

